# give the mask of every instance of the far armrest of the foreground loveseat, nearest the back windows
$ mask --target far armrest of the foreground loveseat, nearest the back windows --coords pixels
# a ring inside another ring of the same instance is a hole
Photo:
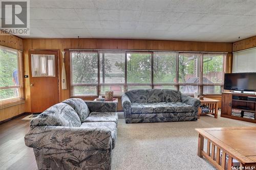
[[[90,112],[116,112],[117,104],[115,102],[96,102],[96,101],[84,101],[86,102]]]

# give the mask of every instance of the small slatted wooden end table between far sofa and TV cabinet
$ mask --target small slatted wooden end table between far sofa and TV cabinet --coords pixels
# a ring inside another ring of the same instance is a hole
[[[199,98],[198,98],[199,99]],[[201,106],[205,105],[209,107],[208,113],[202,113],[202,110],[200,107],[198,107],[198,118],[200,118],[200,115],[202,114],[211,114],[214,115],[215,118],[218,118],[218,100],[204,98],[204,100],[200,100]]]

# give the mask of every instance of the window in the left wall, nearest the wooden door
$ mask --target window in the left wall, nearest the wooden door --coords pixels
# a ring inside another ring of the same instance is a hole
[[[21,52],[0,46],[0,106],[23,99]]]

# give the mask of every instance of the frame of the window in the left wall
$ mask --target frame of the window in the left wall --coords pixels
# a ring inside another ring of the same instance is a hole
[[[0,45],[0,48],[15,52],[17,56],[17,71],[18,71],[18,79],[19,79],[19,85],[17,86],[5,86],[5,87],[0,87],[0,89],[16,89],[18,88],[18,96],[12,97],[12,98],[6,98],[0,100],[0,109],[14,106],[17,104],[25,103],[25,96],[24,96],[24,65],[23,65],[23,52],[16,50],[14,48],[6,47],[3,45]]]

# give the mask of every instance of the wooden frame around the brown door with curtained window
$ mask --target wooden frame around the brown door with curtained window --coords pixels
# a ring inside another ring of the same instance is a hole
[[[47,49],[47,50],[45,50],[45,49],[36,49],[36,50],[34,50],[34,49],[30,49],[29,50],[29,76],[31,77],[32,76],[32,70],[31,70],[31,54],[40,54],[40,53],[44,53],[44,52],[46,52],[46,53],[57,53],[57,60],[56,60],[56,62],[57,62],[57,76],[58,76],[58,102],[60,102],[60,98],[61,98],[61,95],[60,95],[60,71],[59,71],[59,61],[60,61],[60,51],[59,50],[51,50],[51,49]],[[55,55],[55,54],[54,54]],[[29,81],[30,81],[30,78],[29,78]]]

